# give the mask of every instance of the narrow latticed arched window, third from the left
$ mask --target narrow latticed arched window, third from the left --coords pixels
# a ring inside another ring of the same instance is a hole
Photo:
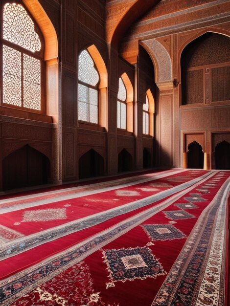
[[[126,130],[126,97],[127,92],[124,82],[119,78],[119,89],[117,94],[117,128]]]

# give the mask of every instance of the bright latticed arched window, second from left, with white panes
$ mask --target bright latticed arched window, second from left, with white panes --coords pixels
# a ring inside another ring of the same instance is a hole
[[[99,74],[90,53],[78,57],[78,120],[98,124]]]

